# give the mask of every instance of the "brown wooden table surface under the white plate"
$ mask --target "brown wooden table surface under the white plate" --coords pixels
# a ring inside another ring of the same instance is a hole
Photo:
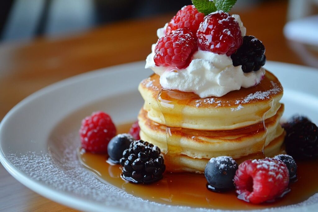
[[[287,2],[264,3],[239,11],[247,35],[263,41],[268,60],[302,64],[283,37]],[[233,11],[235,12],[235,11]],[[76,74],[145,60],[156,29],[173,14],[117,22],[62,38],[0,44],[0,120],[31,93]],[[141,70],[142,71],[142,70]],[[72,211],[16,181],[0,165],[0,211]]]

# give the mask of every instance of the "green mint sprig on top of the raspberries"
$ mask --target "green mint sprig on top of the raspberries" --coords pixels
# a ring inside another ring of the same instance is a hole
[[[228,12],[232,9],[237,0],[191,0],[199,12],[208,15],[217,10]]]

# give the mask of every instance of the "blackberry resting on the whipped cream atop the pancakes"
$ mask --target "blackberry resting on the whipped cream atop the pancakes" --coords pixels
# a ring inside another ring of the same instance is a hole
[[[266,63],[265,47],[254,36],[244,36],[241,47],[231,55],[233,65],[242,65],[245,73],[258,71]]]

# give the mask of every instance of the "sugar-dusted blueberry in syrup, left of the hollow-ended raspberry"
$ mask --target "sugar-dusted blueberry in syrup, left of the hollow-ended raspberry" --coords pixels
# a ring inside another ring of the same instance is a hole
[[[231,190],[234,188],[233,179],[237,169],[238,164],[231,157],[211,158],[204,170],[208,188],[216,192]]]

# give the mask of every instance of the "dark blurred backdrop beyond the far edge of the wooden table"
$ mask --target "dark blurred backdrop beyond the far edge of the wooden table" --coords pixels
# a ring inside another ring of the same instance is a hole
[[[236,9],[246,10],[262,1],[265,0],[239,0]],[[62,36],[114,21],[177,11],[181,5],[190,3],[189,0],[4,0],[0,3],[1,40]]]

